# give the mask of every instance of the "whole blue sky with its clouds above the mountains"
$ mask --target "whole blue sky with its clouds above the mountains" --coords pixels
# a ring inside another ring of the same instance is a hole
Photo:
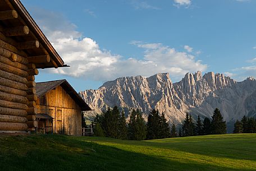
[[[22,0],[70,68],[40,70],[77,91],[121,76],[256,76],[255,0]]]

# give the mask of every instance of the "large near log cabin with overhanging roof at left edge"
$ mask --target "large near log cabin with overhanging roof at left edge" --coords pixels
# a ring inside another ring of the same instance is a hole
[[[19,0],[0,0],[0,133],[38,126],[38,68],[67,67]]]

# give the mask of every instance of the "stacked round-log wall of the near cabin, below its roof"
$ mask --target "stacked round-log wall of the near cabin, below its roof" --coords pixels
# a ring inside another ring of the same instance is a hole
[[[28,60],[11,49],[0,42],[0,132],[28,131]]]

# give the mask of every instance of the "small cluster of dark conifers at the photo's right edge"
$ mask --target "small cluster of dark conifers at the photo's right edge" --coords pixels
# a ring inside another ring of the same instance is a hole
[[[253,117],[243,117],[241,121],[234,124],[234,133],[256,133],[256,119]]]

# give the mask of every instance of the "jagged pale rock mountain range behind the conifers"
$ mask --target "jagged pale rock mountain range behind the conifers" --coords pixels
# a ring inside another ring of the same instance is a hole
[[[180,123],[189,112],[194,117],[211,117],[219,108],[227,122],[243,115],[256,115],[256,81],[247,78],[236,82],[230,77],[213,72],[187,73],[180,82],[172,84],[168,73],[148,78],[121,77],[105,82],[98,90],[81,91],[80,95],[95,111],[102,113],[117,105],[125,109],[139,108],[144,114],[157,108],[172,122]]]

